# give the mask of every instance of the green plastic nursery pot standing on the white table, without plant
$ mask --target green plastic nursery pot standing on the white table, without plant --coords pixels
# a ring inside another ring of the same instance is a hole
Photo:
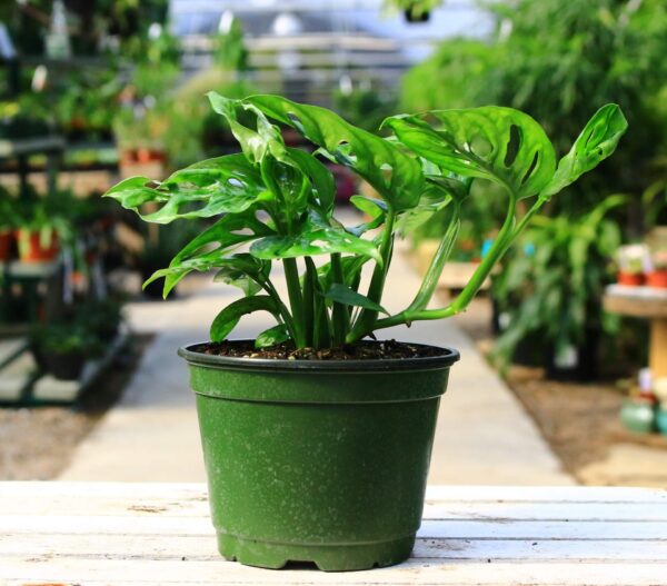
[[[421,523],[456,350],[389,360],[272,360],[179,350],[190,367],[218,548],[267,568],[405,560]]]

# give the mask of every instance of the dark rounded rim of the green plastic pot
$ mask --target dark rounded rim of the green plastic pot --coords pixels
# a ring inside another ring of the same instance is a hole
[[[229,341],[247,342],[250,339]],[[405,370],[441,370],[448,369],[460,359],[458,350],[427,344],[411,344],[421,348],[437,348],[441,356],[425,356],[418,358],[386,358],[380,360],[287,360],[283,358],[242,358],[236,356],[213,356],[199,352],[197,347],[210,344],[200,341],[189,344],[178,349],[178,355],[190,365],[200,367],[218,367],[239,370],[283,371],[283,373],[387,373]]]

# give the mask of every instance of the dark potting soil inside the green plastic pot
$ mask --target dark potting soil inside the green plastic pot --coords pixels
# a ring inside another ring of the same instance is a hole
[[[427,358],[442,356],[440,348],[405,344],[396,340],[370,341],[364,340],[347,344],[340,348],[297,349],[289,344],[278,344],[268,348],[257,349],[252,340],[235,340],[202,344],[195,351],[212,356],[233,358],[263,358],[275,360],[385,360],[406,358]]]

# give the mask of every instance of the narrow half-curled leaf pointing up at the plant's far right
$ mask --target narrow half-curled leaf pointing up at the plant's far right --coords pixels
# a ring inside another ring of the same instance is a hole
[[[556,173],[541,190],[540,197],[550,198],[597,167],[616,150],[627,128],[628,122],[617,105],[603,106],[588,121],[570,151],[560,159]]]

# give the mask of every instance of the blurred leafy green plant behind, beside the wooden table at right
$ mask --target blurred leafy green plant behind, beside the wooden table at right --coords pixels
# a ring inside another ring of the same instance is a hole
[[[535,218],[492,280],[495,299],[509,316],[494,348],[501,362],[530,334],[558,357],[580,347],[587,332],[617,332],[618,318],[603,311],[600,299],[614,280],[611,259],[621,242],[607,216],[624,203],[623,196],[610,196],[576,217]]]

